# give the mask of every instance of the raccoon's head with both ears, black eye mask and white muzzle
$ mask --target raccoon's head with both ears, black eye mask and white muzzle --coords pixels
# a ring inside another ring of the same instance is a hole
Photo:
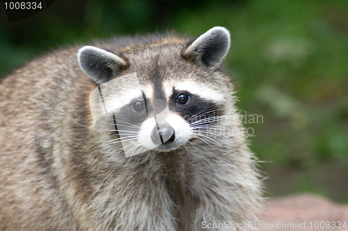
[[[99,85],[90,94],[93,122],[110,130],[106,143],[120,142],[129,156],[214,142],[209,129],[231,93],[219,68],[229,47],[230,33],[219,26],[191,42],[162,37],[122,52],[82,47],[79,64]]]

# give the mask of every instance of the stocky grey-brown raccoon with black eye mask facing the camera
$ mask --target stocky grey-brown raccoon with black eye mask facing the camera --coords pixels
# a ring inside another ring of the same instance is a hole
[[[0,85],[0,230],[244,230],[262,187],[229,47],[216,26],[70,46],[13,71]]]

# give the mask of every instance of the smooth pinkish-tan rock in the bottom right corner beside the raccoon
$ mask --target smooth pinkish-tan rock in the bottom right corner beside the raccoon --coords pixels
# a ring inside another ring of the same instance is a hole
[[[259,215],[260,230],[347,231],[348,205],[339,205],[321,196],[299,194],[273,198]]]

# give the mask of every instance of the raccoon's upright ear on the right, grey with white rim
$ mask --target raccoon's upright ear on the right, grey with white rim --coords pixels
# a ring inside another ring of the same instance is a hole
[[[215,26],[200,35],[182,52],[185,58],[194,59],[198,64],[216,69],[230,48],[230,32]]]

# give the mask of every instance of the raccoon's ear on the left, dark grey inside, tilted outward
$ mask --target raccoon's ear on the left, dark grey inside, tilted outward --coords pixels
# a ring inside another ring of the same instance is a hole
[[[81,68],[98,85],[111,80],[114,71],[127,66],[127,62],[118,55],[95,46],[84,46],[79,49],[77,59]]]

